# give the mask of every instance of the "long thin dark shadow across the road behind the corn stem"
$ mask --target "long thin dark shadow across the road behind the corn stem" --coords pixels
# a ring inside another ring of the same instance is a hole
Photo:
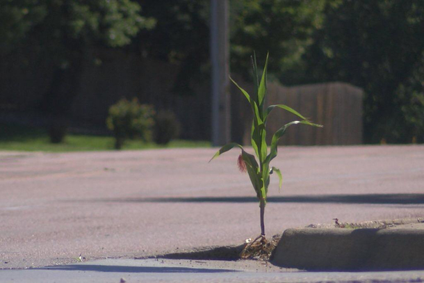
[[[257,202],[256,197],[147,197],[75,200],[76,202]],[[346,204],[424,204],[424,194],[292,195],[268,197],[268,202],[310,202]]]

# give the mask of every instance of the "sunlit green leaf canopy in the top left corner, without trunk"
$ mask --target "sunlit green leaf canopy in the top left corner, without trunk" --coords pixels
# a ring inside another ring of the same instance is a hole
[[[81,47],[99,44],[110,47],[128,45],[140,29],[152,29],[152,18],[140,15],[140,5],[131,0],[31,1],[6,0],[0,9],[2,50],[19,40],[42,38],[42,45],[67,59],[65,46],[72,41]],[[33,42],[36,43],[36,42]],[[40,44],[40,42],[37,42]],[[58,49],[60,47],[60,49]]]

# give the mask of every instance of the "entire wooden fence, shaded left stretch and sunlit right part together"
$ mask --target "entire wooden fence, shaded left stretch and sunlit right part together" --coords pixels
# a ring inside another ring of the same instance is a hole
[[[181,138],[211,138],[211,91],[207,77],[191,83],[193,94],[180,96],[172,92],[178,79],[178,65],[149,60],[128,51],[99,49],[95,53],[102,64],[93,65],[87,60],[79,85],[63,86],[79,90],[72,103],[73,124],[83,129],[90,125],[105,128],[111,104],[122,97],[138,97],[140,102],[153,104],[157,109],[174,111],[181,122]],[[31,112],[49,90],[53,62],[31,58],[28,66],[17,67],[14,58],[7,59],[0,64],[0,106],[10,105],[22,109],[21,113]],[[244,83],[240,76],[234,79],[252,92],[252,85]],[[291,127],[282,138],[285,145],[352,145],[362,141],[362,91],[359,88],[346,83],[286,88],[269,82],[268,104],[287,104],[325,126],[323,129],[304,125]],[[2,112],[0,120],[4,118]],[[275,109],[271,115],[268,132],[295,120],[294,115],[281,109]],[[250,106],[240,91],[231,86],[232,140],[250,144],[251,121]]]

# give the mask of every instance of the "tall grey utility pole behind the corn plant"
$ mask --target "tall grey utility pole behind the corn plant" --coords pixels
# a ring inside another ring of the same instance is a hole
[[[227,0],[211,0],[212,145],[231,140],[229,96],[229,7]]]

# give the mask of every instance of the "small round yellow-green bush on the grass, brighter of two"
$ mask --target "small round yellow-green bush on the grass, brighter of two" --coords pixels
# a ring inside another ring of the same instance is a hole
[[[152,139],[154,110],[152,106],[139,104],[137,99],[121,99],[109,108],[106,124],[113,131],[116,149],[120,149],[127,138],[149,141]]]

